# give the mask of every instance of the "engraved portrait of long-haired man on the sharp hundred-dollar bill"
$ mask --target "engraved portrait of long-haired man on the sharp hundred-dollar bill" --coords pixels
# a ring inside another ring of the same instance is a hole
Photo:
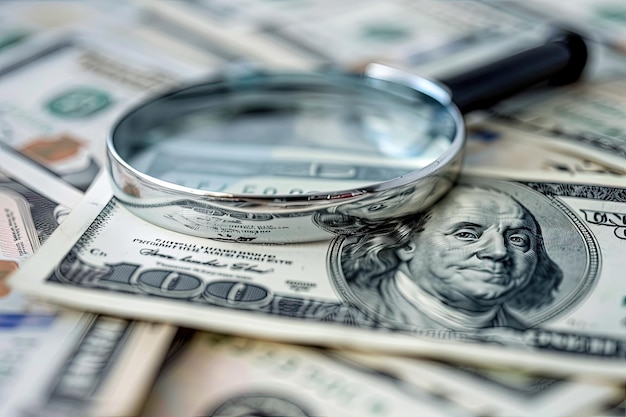
[[[380,321],[523,330],[533,325],[527,312],[563,300],[563,266],[547,250],[540,222],[502,187],[459,184],[431,209],[385,222],[326,220],[341,223],[334,275],[344,297]]]

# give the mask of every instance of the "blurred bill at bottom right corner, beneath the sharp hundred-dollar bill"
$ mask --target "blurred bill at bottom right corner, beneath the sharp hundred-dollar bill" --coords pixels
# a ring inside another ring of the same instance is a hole
[[[448,398],[479,416],[591,416],[625,395],[618,383],[559,379],[519,368],[477,368],[348,351],[338,354]]]

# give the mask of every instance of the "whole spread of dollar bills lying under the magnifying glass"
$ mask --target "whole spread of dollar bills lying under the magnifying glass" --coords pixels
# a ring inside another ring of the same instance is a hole
[[[213,240],[113,197],[106,137],[160,91],[445,77],[556,24],[581,80],[467,115],[411,233]],[[626,416],[625,39],[617,0],[1,2],[0,416]]]

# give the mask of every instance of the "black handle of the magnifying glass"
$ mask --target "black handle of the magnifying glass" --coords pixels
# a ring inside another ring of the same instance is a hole
[[[440,81],[465,114],[491,107],[544,81],[553,85],[572,83],[580,78],[586,63],[584,39],[577,33],[562,31],[541,46]]]

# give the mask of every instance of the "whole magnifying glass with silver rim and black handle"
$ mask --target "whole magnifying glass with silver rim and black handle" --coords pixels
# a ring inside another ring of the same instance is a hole
[[[581,36],[445,80],[254,73],[194,84],[123,116],[107,138],[114,194],[135,215],[234,242],[328,239],[352,221],[423,211],[461,168],[463,114],[547,81],[577,80]]]

